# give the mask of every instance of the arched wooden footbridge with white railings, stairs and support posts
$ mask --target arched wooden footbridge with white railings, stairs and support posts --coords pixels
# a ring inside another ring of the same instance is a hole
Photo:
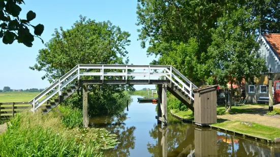
[[[141,70],[141,72],[137,72]],[[143,71],[142,71],[143,70]],[[135,80],[134,77],[143,77]],[[161,80],[159,79],[161,77]],[[78,89],[83,90],[84,127],[88,126],[88,85],[159,85],[158,123],[167,125],[167,98],[170,91],[194,111],[193,89],[197,87],[172,66],[167,65],[98,65],[79,64],[60,77],[42,93],[29,101],[33,111],[47,103],[43,113],[48,113]],[[57,98],[54,98],[57,96]],[[43,100],[41,100],[46,96]],[[54,98],[54,99],[53,99]],[[53,99],[54,101],[50,101]]]

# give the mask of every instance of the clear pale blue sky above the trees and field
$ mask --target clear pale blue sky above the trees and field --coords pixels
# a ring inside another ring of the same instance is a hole
[[[121,1],[32,1],[25,0],[25,5],[21,5],[20,16],[26,18],[26,13],[32,10],[36,13],[36,19],[32,24],[39,23],[45,26],[42,34],[44,42],[48,42],[55,28],[71,28],[72,24],[79,19],[79,15],[86,16],[96,21],[110,20],[113,25],[119,26],[122,30],[131,33],[131,45],[127,47],[130,63],[149,64],[154,57],[146,56],[146,49],[140,47],[137,41],[138,26],[136,15],[136,0]],[[2,39],[1,39],[2,40]],[[12,45],[5,45],[0,42],[0,89],[9,86],[11,89],[46,88],[48,81],[42,80],[44,72],[33,71],[28,67],[36,63],[38,51],[44,48],[41,41],[36,38],[32,48],[18,44],[16,41]],[[154,85],[135,86],[136,89],[144,87],[154,88]]]

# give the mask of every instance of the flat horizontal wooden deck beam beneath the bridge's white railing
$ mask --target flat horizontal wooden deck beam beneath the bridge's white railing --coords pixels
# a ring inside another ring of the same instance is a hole
[[[80,86],[87,85],[159,85],[168,84],[169,80],[80,80]]]

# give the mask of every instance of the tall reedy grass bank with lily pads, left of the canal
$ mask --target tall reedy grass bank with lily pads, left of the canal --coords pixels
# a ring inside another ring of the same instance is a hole
[[[106,129],[81,128],[81,110],[59,108],[61,117],[54,111],[22,112],[10,119],[0,135],[0,156],[101,156],[118,143]]]

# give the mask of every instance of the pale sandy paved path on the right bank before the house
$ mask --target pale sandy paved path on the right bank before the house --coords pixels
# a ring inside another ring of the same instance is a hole
[[[278,106],[274,105],[275,108]],[[280,104],[279,104],[280,108]],[[244,108],[245,109],[245,108]],[[259,123],[266,126],[280,128],[280,115],[266,115],[268,107],[248,105],[247,109],[253,110],[250,113],[236,113],[217,115],[219,119],[226,119],[232,121],[243,121]]]

